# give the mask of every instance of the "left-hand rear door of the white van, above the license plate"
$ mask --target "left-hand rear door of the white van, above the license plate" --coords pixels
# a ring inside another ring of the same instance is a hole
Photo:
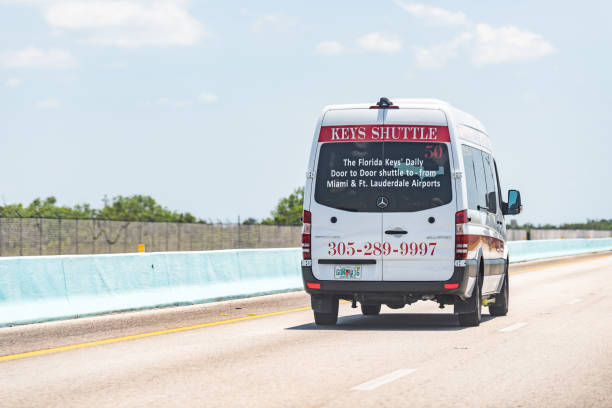
[[[382,120],[374,109],[330,110],[323,118],[310,206],[317,279],[382,280],[381,189],[371,181],[382,166],[383,143],[359,137]]]

